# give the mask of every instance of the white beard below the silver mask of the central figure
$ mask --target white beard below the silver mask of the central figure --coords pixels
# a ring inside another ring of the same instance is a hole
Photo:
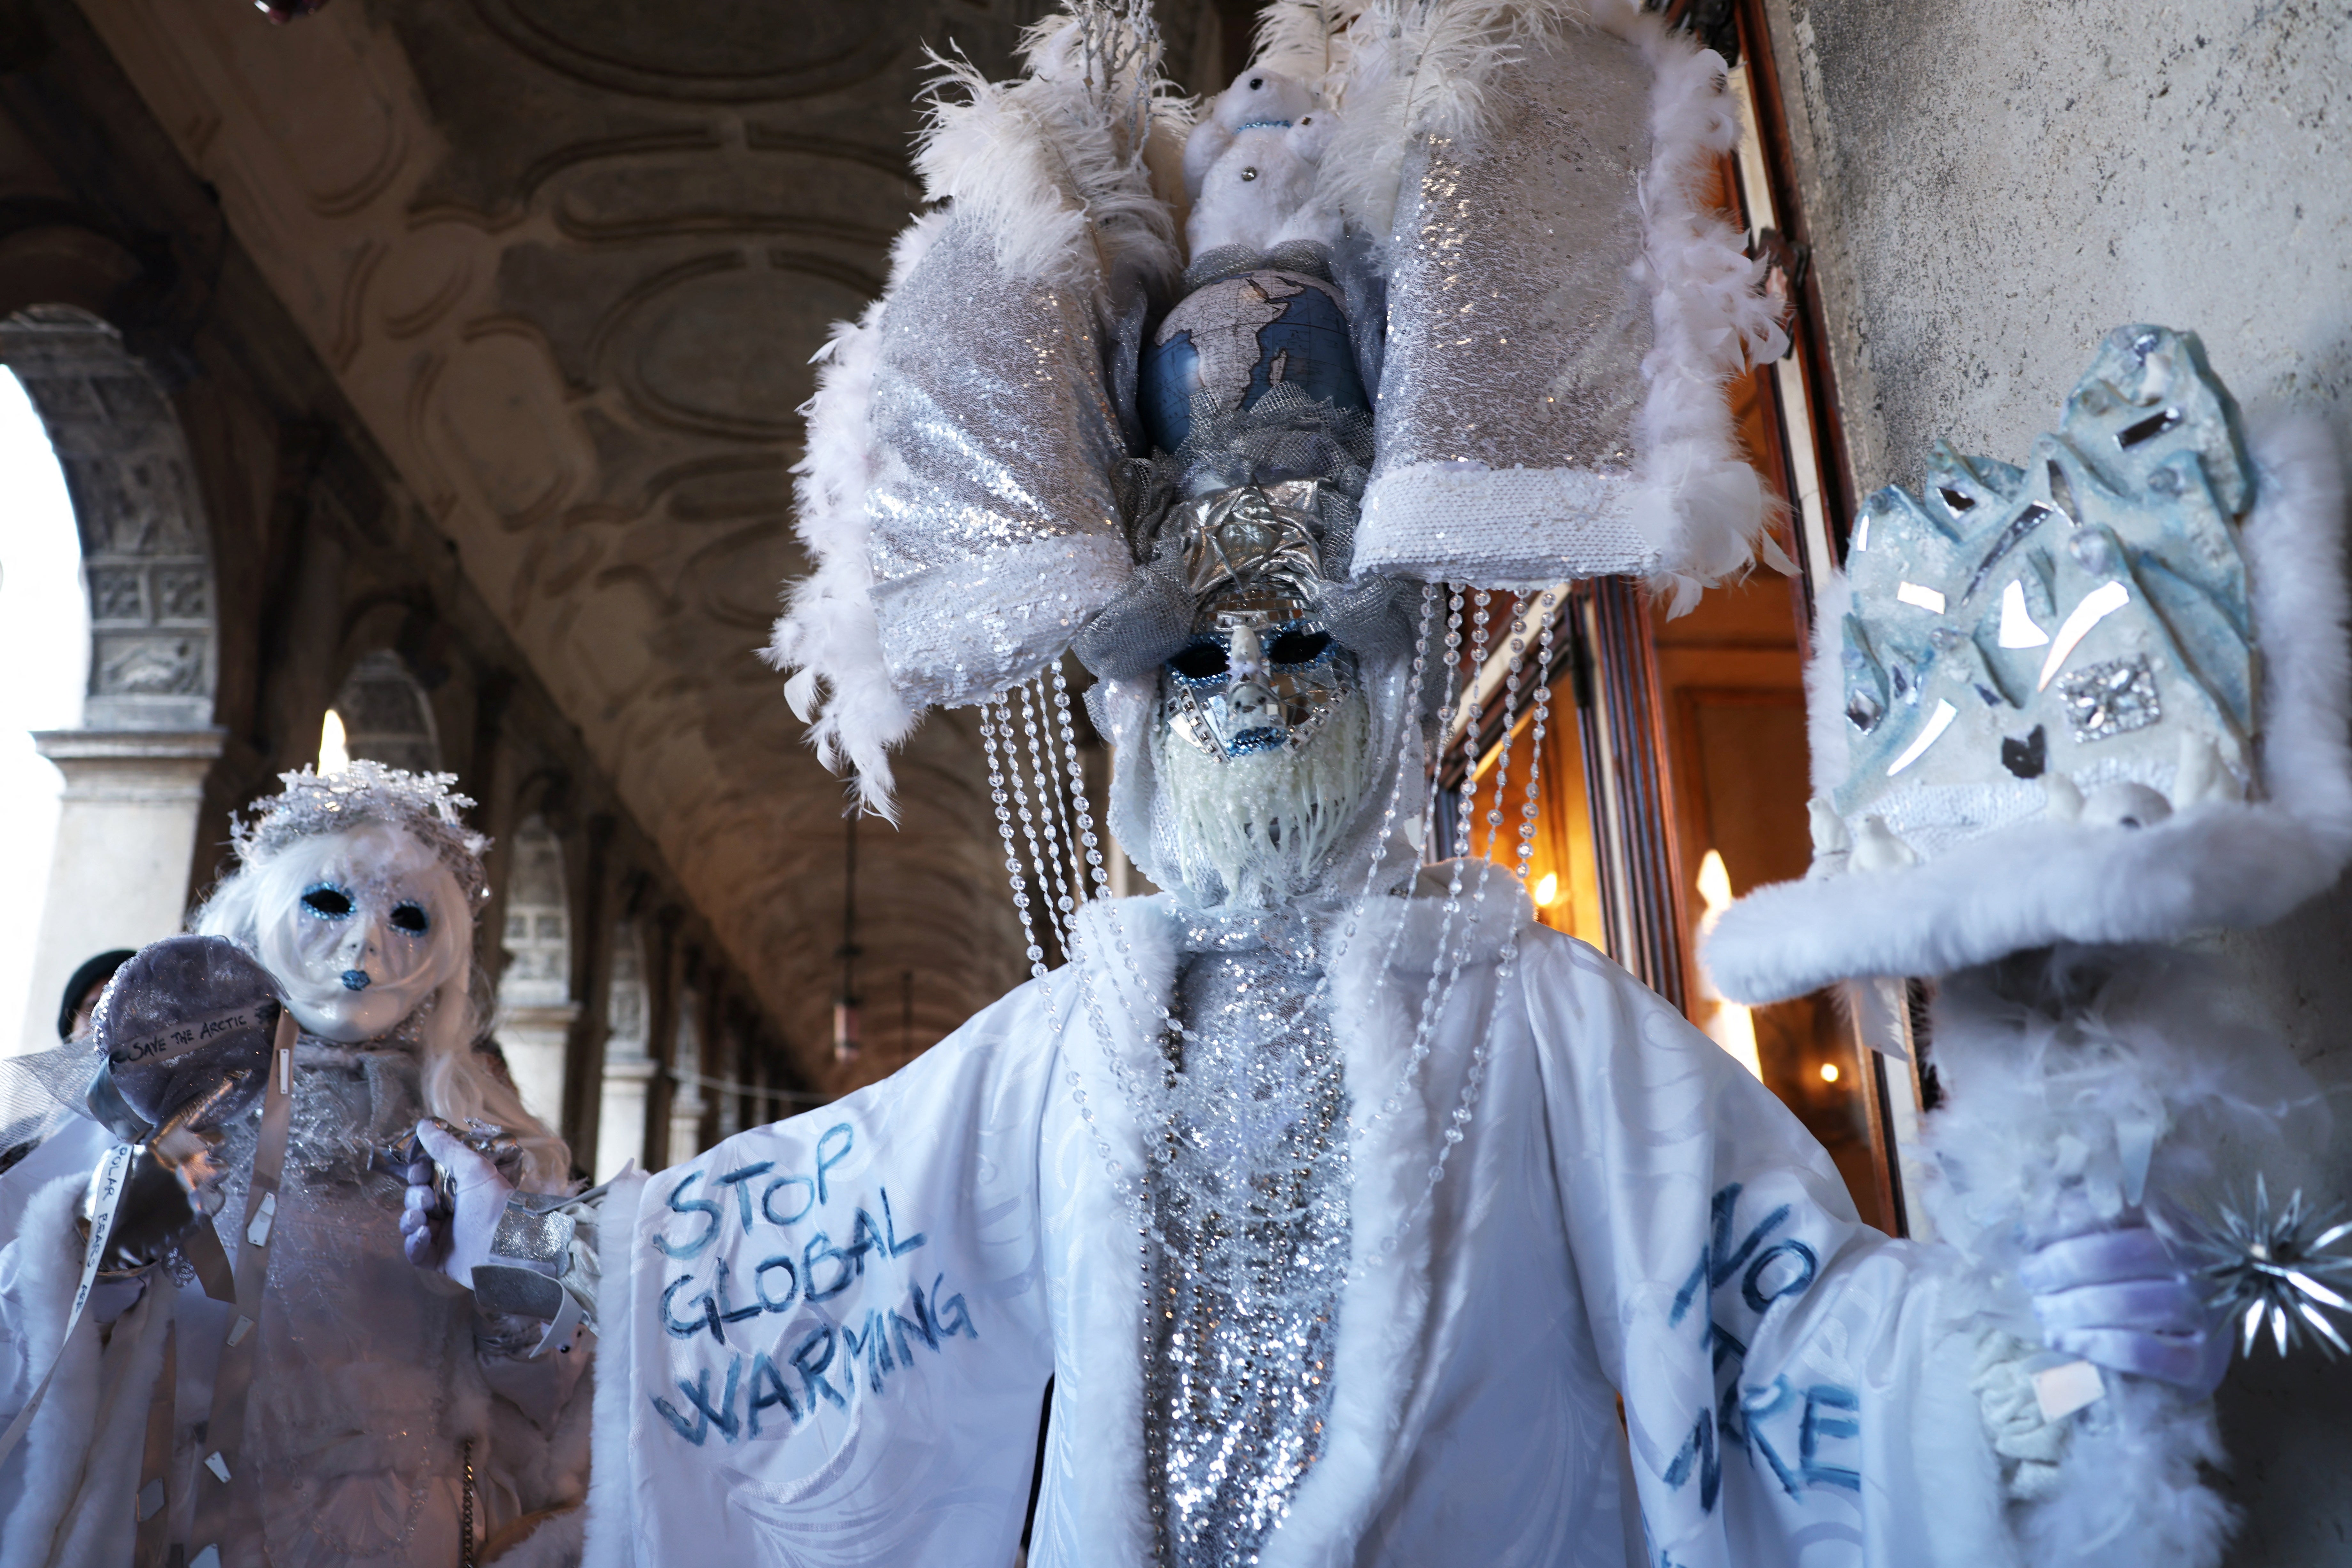
[[[1152,729],[1160,813],[1195,903],[1272,907],[1317,889],[1371,785],[1364,703],[1350,684],[1303,748],[1230,759]]]

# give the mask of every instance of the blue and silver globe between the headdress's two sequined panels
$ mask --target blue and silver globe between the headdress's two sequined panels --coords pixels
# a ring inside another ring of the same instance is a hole
[[[1138,378],[1143,428],[1160,451],[1176,451],[1197,397],[1218,411],[1249,409],[1277,383],[1338,409],[1371,409],[1338,289],[1256,268],[1195,289],[1160,322]]]

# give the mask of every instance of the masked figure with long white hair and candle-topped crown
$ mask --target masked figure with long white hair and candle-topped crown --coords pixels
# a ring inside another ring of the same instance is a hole
[[[473,959],[485,839],[463,825],[468,802],[449,795],[447,776],[358,762],[285,783],[240,827],[240,867],[193,922],[256,957],[261,985],[299,1025],[299,1037],[285,1032],[280,1154],[261,1164],[266,1178],[278,1168],[268,1220],[245,1220],[256,1150],[273,1143],[252,1100],[207,1133],[195,1168],[209,1180],[183,1175],[200,1213],[179,1220],[216,1222],[240,1276],[263,1269],[259,1316],[228,1288],[207,1293],[205,1248],[188,1227],[134,1218],[136,1190],[125,1199],[118,1234],[151,1239],[115,1246],[94,1321],[75,1331],[0,1472],[0,1561],[12,1568],[165,1563],[174,1552],[273,1568],[456,1563],[466,1549],[506,1563],[579,1554],[586,1345],[532,1359],[543,1324],[482,1312],[412,1267],[397,1229],[423,1117],[468,1128],[524,1190],[567,1182],[564,1145],[475,1051],[487,1020]],[[155,969],[174,950],[205,947],[151,947],[108,990],[99,1041],[118,1039],[115,1058],[125,1013],[148,1001],[132,987],[172,990],[141,961]],[[186,999],[162,997],[174,1001]],[[129,1067],[115,1060],[113,1072]],[[75,1121],[7,1175],[9,1410],[56,1354],[82,1265],[73,1218],[115,1135],[146,1138],[136,1124],[108,1133]],[[148,1143],[167,1152],[169,1131]],[[230,1403],[242,1410],[235,1436]]]

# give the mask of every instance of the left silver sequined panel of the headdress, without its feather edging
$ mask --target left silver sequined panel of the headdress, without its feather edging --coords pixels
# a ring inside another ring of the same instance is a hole
[[[891,682],[962,705],[1051,663],[1131,567],[1094,303],[950,221],[882,315],[866,494]]]

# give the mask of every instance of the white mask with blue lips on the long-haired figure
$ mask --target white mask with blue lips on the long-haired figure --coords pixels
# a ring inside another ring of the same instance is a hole
[[[261,877],[261,961],[320,1039],[388,1034],[466,966],[473,919],[456,877],[400,827],[294,839]]]

